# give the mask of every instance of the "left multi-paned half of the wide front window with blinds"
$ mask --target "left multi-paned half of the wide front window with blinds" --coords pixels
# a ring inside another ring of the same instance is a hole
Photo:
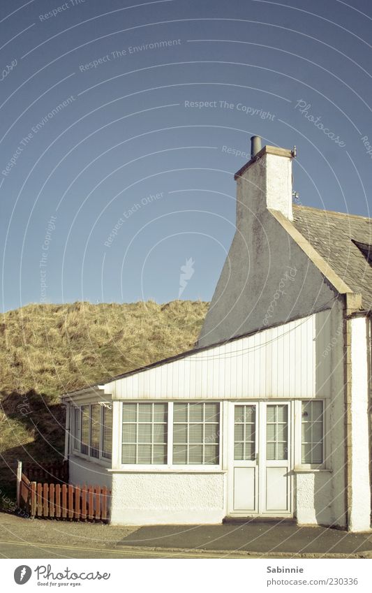
[[[167,463],[167,404],[123,404],[122,463]]]

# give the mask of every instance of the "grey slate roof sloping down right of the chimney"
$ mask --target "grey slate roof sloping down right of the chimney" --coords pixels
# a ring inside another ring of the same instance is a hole
[[[372,309],[372,219],[294,205],[293,224],[353,292]],[[359,247],[355,242],[359,243]],[[364,246],[364,249],[361,247]]]

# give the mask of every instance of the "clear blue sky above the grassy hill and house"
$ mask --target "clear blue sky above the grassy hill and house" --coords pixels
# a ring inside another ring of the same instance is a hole
[[[0,31],[3,310],[168,302],[190,259],[210,300],[253,134],[302,204],[370,215],[367,0],[2,0]]]

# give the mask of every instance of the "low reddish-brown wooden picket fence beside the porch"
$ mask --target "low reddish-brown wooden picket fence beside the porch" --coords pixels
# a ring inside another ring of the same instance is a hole
[[[31,517],[107,521],[110,502],[105,486],[31,482],[22,474],[20,506]]]

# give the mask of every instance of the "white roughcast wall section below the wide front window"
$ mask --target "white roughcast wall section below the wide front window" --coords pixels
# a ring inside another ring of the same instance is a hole
[[[225,474],[112,474],[112,525],[221,523]]]

